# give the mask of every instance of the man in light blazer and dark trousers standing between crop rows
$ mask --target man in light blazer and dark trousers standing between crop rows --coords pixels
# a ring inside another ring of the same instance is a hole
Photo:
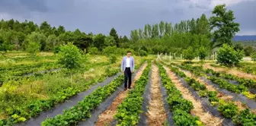
[[[130,51],[123,57],[121,64],[121,71],[124,73],[124,90],[127,90],[127,79],[129,80],[128,88],[131,88],[132,84],[132,73],[134,72],[134,58],[131,56]]]

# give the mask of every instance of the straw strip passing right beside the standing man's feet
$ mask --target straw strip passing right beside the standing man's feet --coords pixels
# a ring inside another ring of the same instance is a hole
[[[139,77],[142,75],[142,72],[146,68],[147,64],[144,64],[142,66],[142,69],[139,70],[139,72],[136,74],[136,76],[133,79],[131,87],[134,87],[134,82],[139,79]],[[95,126],[105,126],[109,125],[111,121],[114,120],[114,115],[117,114],[117,107],[120,105],[121,102],[123,102],[123,99],[126,98],[128,95],[128,91],[121,91],[116,99],[111,103],[111,105],[105,110],[104,112],[101,113],[98,117],[98,121],[96,122]]]

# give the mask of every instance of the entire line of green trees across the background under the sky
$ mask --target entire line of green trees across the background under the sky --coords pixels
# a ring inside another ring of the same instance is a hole
[[[217,5],[212,14],[209,19],[202,14],[197,19],[181,20],[177,24],[164,21],[146,24],[139,30],[132,30],[130,38],[118,36],[114,28],[106,36],[78,29],[67,31],[63,26],[52,27],[46,21],[37,25],[27,20],[1,20],[0,51],[31,50],[33,47],[39,47],[39,51],[54,51],[60,45],[72,42],[79,49],[94,54],[120,53],[122,49],[130,49],[136,54],[147,55],[157,52],[184,53],[186,49],[192,49],[194,55],[200,56],[200,52],[210,54],[225,43],[232,46],[232,38],[239,31],[233,11],[227,10],[226,5]]]

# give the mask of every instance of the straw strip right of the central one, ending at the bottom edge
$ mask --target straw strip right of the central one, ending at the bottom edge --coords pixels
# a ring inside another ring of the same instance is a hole
[[[165,69],[167,70],[168,76],[171,78],[176,88],[181,91],[184,99],[187,99],[193,103],[194,109],[191,110],[192,115],[197,115],[200,118],[200,121],[202,121],[203,124],[205,124],[206,126],[222,125],[222,119],[216,118],[215,116],[211,115],[209,112],[205,112],[203,110],[203,106],[201,102],[197,99],[194,99],[190,91],[187,90],[186,87],[183,87],[178,77],[176,77],[175,74],[169,70],[169,68],[165,68]]]

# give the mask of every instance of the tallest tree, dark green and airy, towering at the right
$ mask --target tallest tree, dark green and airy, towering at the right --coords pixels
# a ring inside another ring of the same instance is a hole
[[[213,46],[222,46],[224,43],[232,46],[232,38],[239,31],[233,11],[227,11],[226,5],[217,5],[212,14],[215,15],[210,17],[210,27],[212,30],[216,29],[213,31]]]

